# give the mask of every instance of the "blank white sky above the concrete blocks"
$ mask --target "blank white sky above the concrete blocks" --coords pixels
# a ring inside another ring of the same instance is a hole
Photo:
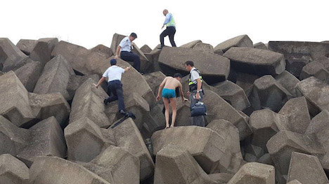
[[[329,40],[327,0],[1,0],[0,7],[0,37],[14,44],[20,38],[57,37],[85,48],[110,47],[113,34],[134,31],[139,47],[154,48],[164,8],[174,15],[178,46],[198,39],[216,46],[240,34],[254,43]],[[170,45],[168,37],[164,41]]]

